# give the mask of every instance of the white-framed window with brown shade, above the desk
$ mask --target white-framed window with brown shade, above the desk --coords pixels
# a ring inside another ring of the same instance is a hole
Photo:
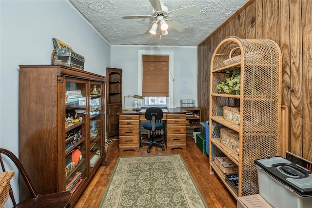
[[[141,106],[174,106],[171,60],[173,51],[138,51],[138,94],[144,97]]]

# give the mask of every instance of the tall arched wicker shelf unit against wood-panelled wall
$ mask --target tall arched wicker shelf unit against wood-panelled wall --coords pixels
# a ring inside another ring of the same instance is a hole
[[[224,81],[230,68],[240,70],[240,92],[225,94],[217,89],[217,84]],[[212,57],[210,84],[210,169],[235,198],[256,194],[258,179],[254,160],[280,154],[281,51],[278,45],[267,39],[229,37],[223,40]],[[236,110],[239,107],[236,113],[239,119],[235,117],[234,122],[229,121],[230,117],[225,119],[223,106]],[[222,127],[239,134],[238,151],[233,148],[234,143],[220,140]],[[215,163],[216,157],[224,156],[238,166],[238,190],[228,184],[226,174]]]

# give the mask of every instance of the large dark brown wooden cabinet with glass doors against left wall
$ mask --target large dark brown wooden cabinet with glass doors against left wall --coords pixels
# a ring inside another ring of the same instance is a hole
[[[20,65],[20,161],[39,194],[72,190],[101,165],[106,78],[62,65]],[[20,183],[20,200],[27,196]]]

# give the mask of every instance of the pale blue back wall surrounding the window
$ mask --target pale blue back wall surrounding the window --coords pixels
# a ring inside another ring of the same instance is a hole
[[[181,99],[193,99],[197,103],[197,47],[113,45],[111,47],[111,67],[122,68],[123,96],[138,94],[139,63],[137,56],[140,50],[173,51],[175,92],[173,107],[180,106]],[[138,101],[140,102],[140,100]],[[133,107],[132,103],[129,104],[127,101],[125,103],[125,108]]]

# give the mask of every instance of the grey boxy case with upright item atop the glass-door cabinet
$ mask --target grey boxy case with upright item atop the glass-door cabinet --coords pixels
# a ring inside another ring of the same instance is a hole
[[[51,64],[61,64],[76,69],[84,70],[84,57],[72,50],[72,47],[60,40],[53,38],[54,50]]]

